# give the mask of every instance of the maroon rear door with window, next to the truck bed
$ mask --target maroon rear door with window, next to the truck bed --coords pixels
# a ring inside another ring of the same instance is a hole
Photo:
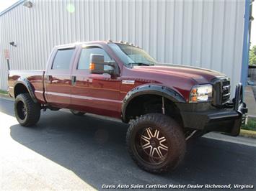
[[[45,98],[52,106],[67,108],[71,103],[71,70],[76,47],[62,47],[45,72]]]

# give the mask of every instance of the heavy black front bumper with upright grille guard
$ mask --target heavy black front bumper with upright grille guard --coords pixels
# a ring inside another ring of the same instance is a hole
[[[242,95],[242,84],[239,83],[231,104],[206,111],[180,111],[183,125],[187,129],[200,130],[203,133],[221,131],[231,136],[239,135],[240,127],[244,123],[247,113]]]

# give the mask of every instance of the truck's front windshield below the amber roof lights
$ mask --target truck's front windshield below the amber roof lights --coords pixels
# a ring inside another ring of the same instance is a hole
[[[126,66],[131,67],[133,65],[155,65],[156,60],[152,58],[148,53],[138,47],[130,45],[123,45],[119,43],[108,44],[116,55],[122,60]]]

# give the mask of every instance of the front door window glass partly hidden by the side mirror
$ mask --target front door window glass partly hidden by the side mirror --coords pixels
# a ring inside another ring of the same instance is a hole
[[[89,48],[84,48],[81,50],[81,55],[79,59],[79,64],[77,66],[78,70],[84,70],[84,69],[89,69],[89,57],[91,54],[100,54],[104,55],[104,61],[111,61],[111,58],[107,55],[107,52],[103,50],[100,47],[89,47]],[[104,66],[104,70],[110,70],[111,67],[108,65]]]

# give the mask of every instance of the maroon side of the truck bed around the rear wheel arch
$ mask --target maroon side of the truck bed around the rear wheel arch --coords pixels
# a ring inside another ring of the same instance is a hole
[[[32,90],[35,93],[35,97],[40,103],[45,103],[44,93],[44,74],[45,70],[9,70],[8,85],[9,94],[12,97],[14,95],[14,86],[17,80],[21,78],[27,79],[32,85]]]

